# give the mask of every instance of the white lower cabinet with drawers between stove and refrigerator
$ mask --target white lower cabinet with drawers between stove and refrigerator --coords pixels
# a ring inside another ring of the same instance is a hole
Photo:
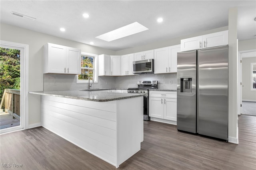
[[[150,91],[149,116],[177,121],[177,92]]]

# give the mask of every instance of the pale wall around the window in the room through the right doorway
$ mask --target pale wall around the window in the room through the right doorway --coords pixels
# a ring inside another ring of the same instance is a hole
[[[242,58],[242,101],[256,101],[256,90],[251,90],[251,63],[256,63],[256,57]]]

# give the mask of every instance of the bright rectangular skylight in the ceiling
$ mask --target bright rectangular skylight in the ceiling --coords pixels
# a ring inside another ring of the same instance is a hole
[[[99,39],[107,41],[107,42],[111,42],[113,40],[117,40],[119,38],[130,36],[132,34],[136,34],[136,33],[142,32],[142,31],[146,31],[146,30],[148,30],[148,28],[146,28],[145,26],[142,26],[138,22],[134,22],[127,26],[123,26],[116,30],[113,30],[108,33],[97,36],[96,38],[99,38]]]

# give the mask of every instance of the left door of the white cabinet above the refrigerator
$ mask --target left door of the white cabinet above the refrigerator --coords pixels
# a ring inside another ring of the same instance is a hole
[[[180,40],[180,45],[181,51],[202,48],[202,36]]]

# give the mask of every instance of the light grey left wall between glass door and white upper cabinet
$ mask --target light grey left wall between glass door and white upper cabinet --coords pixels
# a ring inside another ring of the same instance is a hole
[[[43,45],[48,42],[79,48],[88,53],[115,54],[115,51],[108,49],[102,49],[3,23],[0,25],[0,38],[4,41],[29,45],[28,91],[43,90]],[[29,94],[28,124],[33,125],[37,123],[40,123],[40,96]]]

